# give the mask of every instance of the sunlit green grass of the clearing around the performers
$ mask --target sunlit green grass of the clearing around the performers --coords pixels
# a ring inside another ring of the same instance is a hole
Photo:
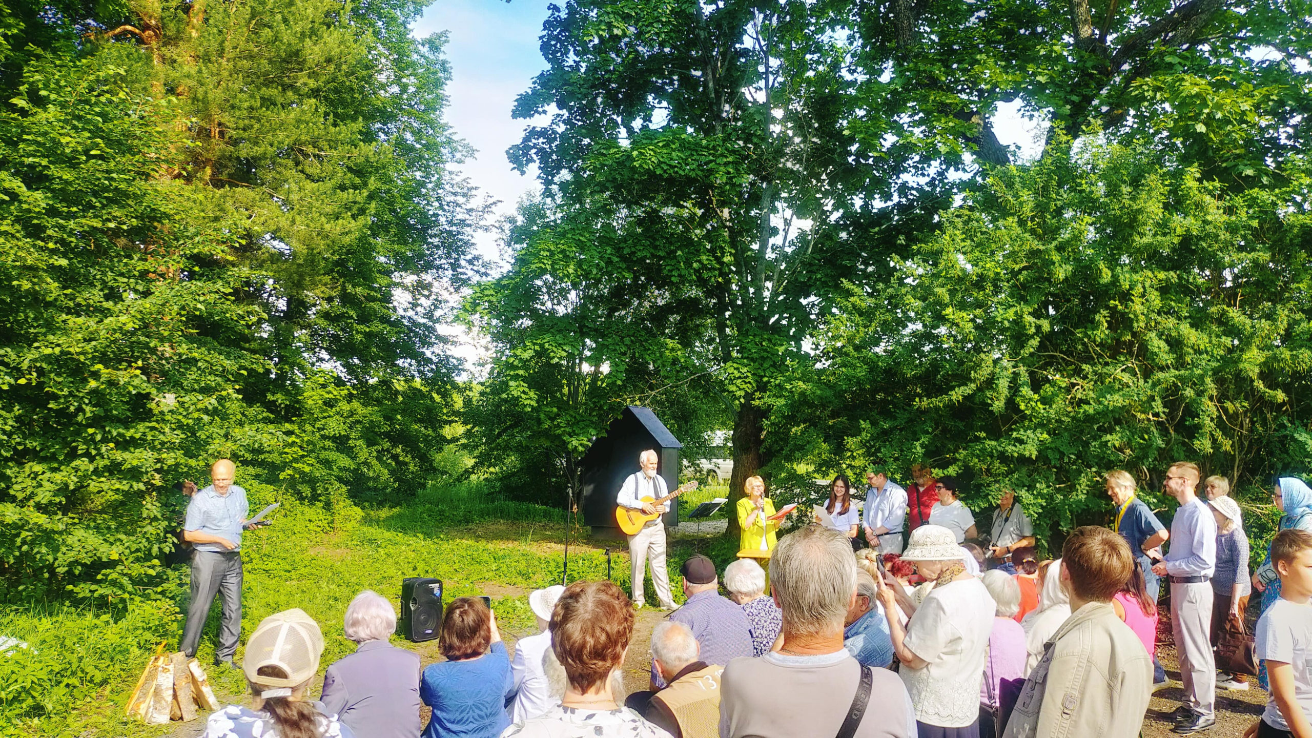
[[[707,494],[706,499],[711,496],[727,495]],[[243,540],[243,643],[261,619],[298,607],[323,628],[320,667],[327,667],[354,650],[342,637],[341,622],[350,599],[361,590],[374,590],[395,603],[404,576],[442,579],[449,599],[487,594],[502,629],[527,634],[534,628],[527,594],[560,582],[563,523],[558,510],[493,499],[480,483],[433,485],[409,504],[379,511],[346,506],[329,513],[285,506],[274,525]],[[619,552],[611,579],[627,590],[623,542],[592,544],[585,529],[571,536],[569,580],[606,576],[604,545]],[[697,549],[723,567],[737,546],[720,538],[672,544],[672,582]],[[151,738],[169,733],[169,726],[126,721],[122,709],[156,645],[177,647],[186,569],[176,567],[173,576],[171,599],[115,612],[50,604],[0,609],[0,634],[30,645],[0,657],[0,735]],[[681,599],[678,592],[676,599]],[[655,601],[653,592],[647,601]],[[215,603],[197,654],[202,664],[214,655],[218,616]],[[394,642],[420,651],[425,662],[436,658],[436,642]],[[241,654],[239,649],[239,661]],[[244,699],[239,672],[210,672],[220,699]],[[312,682],[312,692],[319,685],[319,680]]]

